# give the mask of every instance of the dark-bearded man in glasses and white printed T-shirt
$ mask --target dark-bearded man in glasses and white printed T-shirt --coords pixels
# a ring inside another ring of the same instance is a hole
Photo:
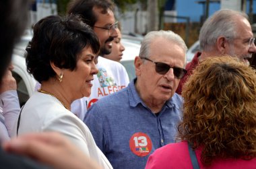
[[[99,70],[106,71],[111,83],[102,83],[100,79],[100,71],[98,75],[94,75],[92,81],[92,93],[88,98],[75,100],[71,104],[71,111],[84,119],[86,111],[94,102],[104,96],[108,96],[125,88],[129,83],[127,71],[121,63],[111,61],[102,57],[108,55],[112,50],[112,43],[117,37],[117,21],[114,17],[114,3],[111,0],[74,0],[68,7],[69,14],[79,14],[84,22],[91,26],[100,40],[100,57],[98,57]]]

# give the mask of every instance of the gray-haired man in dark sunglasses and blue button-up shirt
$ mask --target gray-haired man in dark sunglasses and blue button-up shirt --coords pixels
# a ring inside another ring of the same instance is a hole
[[[175,141],[183,100],[175,93],[187,72],[182,38],[148,33],[135,58],[137,77],[88,110],[84,122],[113,168],[145,168],[152,152]]]

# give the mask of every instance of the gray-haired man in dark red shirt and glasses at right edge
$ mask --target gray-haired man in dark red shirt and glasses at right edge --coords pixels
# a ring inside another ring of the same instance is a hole
[[[200,50],[193,60],[186,65],[187,74],[181,79],[177,93],[181,94],[187,77],[193,73],[199,61],[207,57],[228,54],[238,57],[249,65],[248,59],[256,53],[253,32],[246,13],[221,9],[208,18],[201,27],[199,34]]]

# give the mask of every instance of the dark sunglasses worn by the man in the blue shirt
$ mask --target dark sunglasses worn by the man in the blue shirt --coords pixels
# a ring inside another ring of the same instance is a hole
[[[173,69],[174,77],[176,77],[177,79],[181,79],[187,73],[187,70],[181,67],[170,67],[170,65],[166,63],[155,62],[146,57],[140,57],[140,58],[145,59],[147,61],[151,61],[152,63],[155,63],[156,73],[159,73],[160,75],[165,75],[170,70],[170,68]]]

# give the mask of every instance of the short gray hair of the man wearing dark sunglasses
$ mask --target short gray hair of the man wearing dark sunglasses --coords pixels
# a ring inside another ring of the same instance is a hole
[[[150,56],[150,44],[156,38],[165,38],[166,40],[170,40],[181,46],[183,48],[184,53],[187,52],[187,45],[185,44],[184,40],[178,34],[170,30],[159,30],[159,31],[152,31],[146,34],[145,38],[141,42],[141,47],[139,50],[140,57],[149,57]],[[161,49],[160,49],[161,50]],[[185,57],[186,60],[186,57]]]

